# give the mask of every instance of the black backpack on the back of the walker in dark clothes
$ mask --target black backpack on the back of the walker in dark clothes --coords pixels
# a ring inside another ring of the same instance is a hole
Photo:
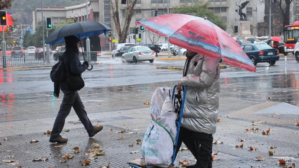
[[[50,72],[50,78],[52,82],[63,82],[66,77],[66,72],[64,68],[64,62],[61,56],[59,56],[59,61],[52,67]]]

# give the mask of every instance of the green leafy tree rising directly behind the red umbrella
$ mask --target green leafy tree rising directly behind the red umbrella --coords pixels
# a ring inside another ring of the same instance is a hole
[[[192,6],[187,3],[174,7],[174,13],[193,15],[198,17],[207,17],[210,22],[213,22],[219,28],[226,30],[226,23],[219,15],[215,15],[213,11],[208,9],[208,1],[198,1]]]

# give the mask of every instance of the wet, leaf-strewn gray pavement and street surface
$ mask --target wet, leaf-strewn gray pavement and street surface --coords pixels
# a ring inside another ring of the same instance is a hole
[[[73,168],[84,167],[82,162],[88,159],[91,163],[87,167],[104,167],[110,161],[111,168],[119,168],[129,167],[127,162],[141,157],[140,153],[130,152],[140,151],[136,140],[143,139],[151,120],[149,106],[143,103],[151,100],[156,87],[173,87],[182,76],[182,71],[157,67],[182,67],[185,60],[127,64],[119,59],[100,59],[100,62],[103,64],[83,73],[85,88],[79,93],[91,122],[103,125],[104,129],[89,138],[71,110],[64,127],[69,132],[61,134],[69,141],[62,146],[49,143],[49,135],[44,134],[52,129],[63,97],[62,92],[59,98],[52,95],[51,68],[0,70],[0,158],[14,160],[1,162],[0,167]],[[213,161],[213,167],[283,167],[278,163],[279,157],[287,160],[286,165],[299,165],[299,127],[294,125],[299,119],[298,66],[295,56],[288,55],[281,56],[274,66],[257,64],[255,73],[232,66],[221,69],[221,120],[214,140],[224,143],[213,145],[219,159]],[[270,133],[263,135],[262,131],[268,128]],[[125,132],[118,133],[120,130]],[[86,153],[94,149],[92,143],[99,143],[105,155],[89,159]],[[132,143],[134,146],[129,146]],[[243,148],[236,148],[242,143]],[[78,153],[72,152],[76,146],[80,149]],[[249,150],[248,146],[257,150]],[[277,148],[269,149],[270,146]],[[269,155],[269,150],[276,155]],[[65,154],[74,158],[60,162]],[[265,160],[257,161],[258,156]],[[40,157],[48,161],[32,161]],[[178,161],[185,159],[195,163],[190,151],[182,150],[176,166],[180,167]]]

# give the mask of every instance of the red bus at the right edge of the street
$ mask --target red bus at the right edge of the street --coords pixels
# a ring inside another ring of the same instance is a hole
[[[294,49],[299,37],[299,21],[284,28],[284,43],[287,49]]]

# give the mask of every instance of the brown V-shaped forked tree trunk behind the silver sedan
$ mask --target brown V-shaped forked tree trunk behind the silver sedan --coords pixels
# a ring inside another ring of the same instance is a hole
[[[126,7],[126,18],[124,20],[124,25],[123,28],[121,28],[120,25],[120,9],[118,6],[119,1],[118,0],[110,0],[110,6],[112,7],[112,18],[115,24],[115,28],[118,34],[118,42],[119,43],[125,43],[128,32],[129,32],[129,27],[130,23],[132,20],[132,16],[134,14],[134,7],[136,4],[137,0],[127,0],[127,7]]]

